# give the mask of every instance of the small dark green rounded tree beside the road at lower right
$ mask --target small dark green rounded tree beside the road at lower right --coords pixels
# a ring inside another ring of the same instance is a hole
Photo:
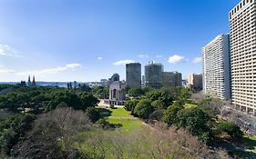
[[[243,133],[240,127],[230,122],[223,122],[218,125],[218,129],[230,135],[232,138],[241,138]]]

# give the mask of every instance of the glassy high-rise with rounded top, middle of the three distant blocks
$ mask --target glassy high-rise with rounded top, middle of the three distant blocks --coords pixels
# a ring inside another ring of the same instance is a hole
[[[145,84],[147,87],[159,89],[162,84],[163,65],[149,62],[145,65]]]

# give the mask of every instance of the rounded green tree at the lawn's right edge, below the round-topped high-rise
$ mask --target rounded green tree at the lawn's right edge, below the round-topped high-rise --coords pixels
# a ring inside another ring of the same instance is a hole
[[[143,119],[148,119],[149,114],[154,111],[151,101],[148,99],[141,99],[134,108],[134,114]]]

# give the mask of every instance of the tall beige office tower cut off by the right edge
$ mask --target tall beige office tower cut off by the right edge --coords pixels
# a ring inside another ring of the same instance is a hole
[[[243,0],[230,11],[232,102],[256,110],[256,0]]]

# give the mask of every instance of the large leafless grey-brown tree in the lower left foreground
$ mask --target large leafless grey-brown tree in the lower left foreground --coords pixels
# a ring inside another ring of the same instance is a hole
[[[72,107],[56,108],[38,116],[25,141],[16,146],[15,155],[31,159],[82,158],[73,145],[77,141],[77,133],[90,128],[91,123],[83,111]]]

